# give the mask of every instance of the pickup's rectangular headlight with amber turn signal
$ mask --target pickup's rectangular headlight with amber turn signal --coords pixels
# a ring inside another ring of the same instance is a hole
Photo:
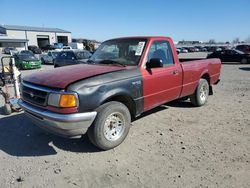
[[[75,93],[50,93],[48,105],[62,108],[76,107],[78,97]]]

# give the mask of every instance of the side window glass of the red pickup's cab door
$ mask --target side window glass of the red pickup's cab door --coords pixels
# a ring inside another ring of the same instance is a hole
[[[174,64],[172,51],[167,41],[156,41],[151,45],[147,60],[152,58],[161,59],[163,66]]]

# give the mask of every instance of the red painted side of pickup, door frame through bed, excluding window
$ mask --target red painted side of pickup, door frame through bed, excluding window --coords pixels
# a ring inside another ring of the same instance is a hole
[[[210,85],[220,76],[221,63],[218,59],[189,61],[180,64],[174,43],[168,37],[147,37],[148,43],[139,67],[143,76],[144,111],[177,98],[193,94],[200,78],[208,74]],[[147,55],[154,41],[167,41],[172,49],[174,65],[145,69]],[[174,74],[174,72],[178,74]]]

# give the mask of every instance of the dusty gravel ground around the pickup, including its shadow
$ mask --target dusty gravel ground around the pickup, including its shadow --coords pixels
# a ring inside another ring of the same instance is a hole
[[[205,106],[162,105],[110,151],[48,134],[23,113],[0,115],[0,187],[247,188],[249,114],[250,65],[231,63]]]

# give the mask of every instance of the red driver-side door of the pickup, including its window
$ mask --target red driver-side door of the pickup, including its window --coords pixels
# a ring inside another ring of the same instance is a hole
[[[152,43],[147,61],[152,58],[161,59],[163,67],[144,69],[142,72],[144,111],[178,98],[182,89],[182,68],[174,62],[168,41]]]

